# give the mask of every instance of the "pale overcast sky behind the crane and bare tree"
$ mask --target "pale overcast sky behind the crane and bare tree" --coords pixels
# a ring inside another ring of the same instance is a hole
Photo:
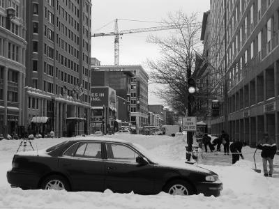
[[[92,29],[91,33],[108,33],[114,31],[114,20],[119,20],[119,31],[124,29],[139,29],[160,26],[157,23],[167,19],[167,14],[182,10],[183,13],[199,13],[199,22],[202,15],[209,10],[209,0],[92,0]],[[126,20],[143,20],[133,22]],[[166,36],[168,31],[152,32],[156,36]],[[145,65],[146,59],[158,59],[158,47],[146,42],[149,33],[133,33],[123,35],[119,41],[119,64]],[[114,36],[95,37],[91,39],[91,56],[96,57],[101,65],[114,65]],[[149,104],[163,104],[163,100],[150,93],[155,85],[149,85]]]

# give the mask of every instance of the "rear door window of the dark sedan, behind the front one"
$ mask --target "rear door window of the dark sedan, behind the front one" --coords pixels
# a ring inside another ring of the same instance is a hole
[[[100,143],[81,143],[77,148],[74,157],[85,157],[85,158],[102,158]]]

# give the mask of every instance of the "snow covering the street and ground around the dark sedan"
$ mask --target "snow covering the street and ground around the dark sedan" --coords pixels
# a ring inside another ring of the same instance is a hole
[[[125,139],[141,144],[155,155],[176,162],[185,162],[185,141],[183,137],[143,136],[119,134],[106,137]],[[35,139],[31,141],[36,149],[46,148],[66,138]],[[20,141],[0,141],[0,208],[279,208],[279,157],[274,162],[275,178],[266,178],[263,173],[252,171],[252,153],[255,149],[243,148],[245,160],[231,164],[231,155],[204,153],[199,158],[199,166],[218,173],[223,182],[223,192],[219,197],[171,196],[160,193],[152,196],[138,194],[113,194],[110,190],[100,192],[66,192],[52,190],[22,190],[10,188],[6,171],[11,167],[13,155]],[[262,159],[256,155],[257,167],[262,169]]]

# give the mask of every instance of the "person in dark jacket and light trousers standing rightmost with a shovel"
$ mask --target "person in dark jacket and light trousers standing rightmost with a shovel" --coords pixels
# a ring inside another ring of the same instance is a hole
[[[273,173],[273,158],[277,151],[276,143],[273,139],[269,138],[269,134],[264,134],[261,144],[257,148],[262,150],[262,167],[264,168],[264,176],[272,176]],[[267,171],[267,162],[269,162],[269,172]]]

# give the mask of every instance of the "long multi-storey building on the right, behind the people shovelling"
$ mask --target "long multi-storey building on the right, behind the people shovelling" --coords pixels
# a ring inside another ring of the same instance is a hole
[[[204,51],[215,81],[227,84],[227,91],[216,86],[225,102],[211,121],[211,132],[225,127],[227,108],[232,140],[255,146],[268,132],[278,144],[279,1],[211,1],[210,18]]]

